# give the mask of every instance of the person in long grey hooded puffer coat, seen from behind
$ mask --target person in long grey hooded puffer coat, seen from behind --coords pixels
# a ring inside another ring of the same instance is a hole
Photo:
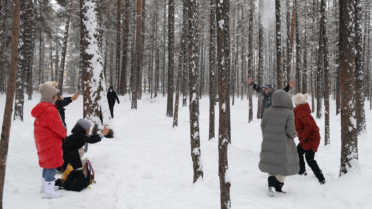
[[[298,153],[293,139],[297,137],[293,110],[291,96],[283,90],[276,90],[272,96],[272,107],[266,109],[262,116],[263,140],[258,167],[260,171],[269,174],[269,196],[283,192],[285,177],[298,174],[299,171]]]

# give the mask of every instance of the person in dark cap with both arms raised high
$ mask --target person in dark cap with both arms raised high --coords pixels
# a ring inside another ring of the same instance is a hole
[[[263,112],[269,107],[271,107],[271,97],[275,91],[273,88],[273,85],[271,83],[267,83],[265,86],[260,87],[259,85],[253,83],[253,79],[248,79],[248,84],[253,87],[254,90],[256,90],[260,95],[263,96],[262,105],[261,105],[261,118],[263,115]],[[291,90],[292,87],[296,85],[296,81],[290,81],[289,84],[283,88],[284,91],[288,92]]]

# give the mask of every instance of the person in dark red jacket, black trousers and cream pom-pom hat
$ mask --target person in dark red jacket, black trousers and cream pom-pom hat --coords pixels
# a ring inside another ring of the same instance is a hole
[[[295,126],[300,141],[297,145],[297,152],[300,160],[300,171],[298,174],[307,175],[305,170],[305,159],[315,176],[318,178],[320,184],[325,183],[322,171],[320,170],[317,161],[314,160],[315,152],[318,151],[320,144],[320,134],[317,123],[310,115],[311,109],[309,103],[306,102],[309,94],[298,93],[293,97],[296,105],[295,110]]]

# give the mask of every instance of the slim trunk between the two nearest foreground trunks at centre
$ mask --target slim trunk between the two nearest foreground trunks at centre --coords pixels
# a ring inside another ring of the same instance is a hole
[[[184,0],[185,1],[185,0]],[[217,48],[216,48],[216,1],[211,0],[210,14],[210,44],[209,44],[209,138],[215,137],[215,105],[216,105],[216,79],[217,79]]]

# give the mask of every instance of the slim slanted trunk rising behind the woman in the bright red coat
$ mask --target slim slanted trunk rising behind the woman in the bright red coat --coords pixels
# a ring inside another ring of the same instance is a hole
[[[119,0],[120,1],[120,0]],[[60,89],[60,95],[63,93],[63,75],[65,70],[65,60],[66,60],[66,48],[67,48],[67,40],[68,40],[68,30],[70,29],[70,19],[71,19],[71,10],[72,10],[72,3],[73,0],[71,0],[67,7],[68,7],[68,13],[67,13],[67,21],[65,25],[65,33],[63,36],[63,46],[62,46],[62,53],[61,53],[61,66],[60,66],[60,75],[58,79],[58,88]]]

